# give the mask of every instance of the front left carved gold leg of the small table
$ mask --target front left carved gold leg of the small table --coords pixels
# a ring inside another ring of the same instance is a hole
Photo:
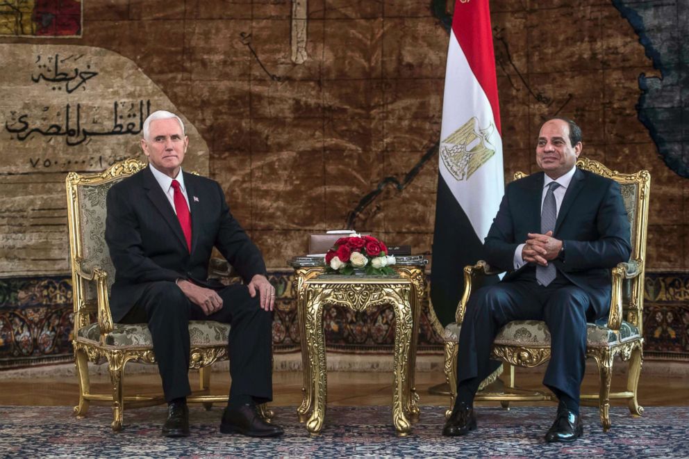
[[[313,387],[311,394],[313,397],[313,413],[306,423],[309,433],[319,434],[323,428],[326,411],[326,399],[328,392],[328,381],[326,375],[325,362],[325,337],[323,332],[323,305],[321,303],[320,292],[306,292],[313,295],[313,300],[306,300],[305,323],[306,323],[306,352],[310,366],[311,381]]]

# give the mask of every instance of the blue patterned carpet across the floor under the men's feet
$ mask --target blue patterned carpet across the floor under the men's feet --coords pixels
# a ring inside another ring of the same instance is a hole
[[[75,419],[67,407],[0,407],[0,456],[7,458],[233,458],[233,457],[601,457],[681,458],[689,456],[689,408],[647,408],[634,419],[613,408],[613,428],[603,433],[595,408],[583,408],[584,437],[571,445],[545,444],[554,407],[479,408],[479,430],[460,438],[440,435],[442,408],[423,407],[408,437],[395,437],[389,407],[331,407],[319,437],[297,422],[294,408],[275,408],[285,426],[279,439],[256,440],[222,435],[220,408],[192,406],[192,435],[160,436],[165,408],[125,412],[122,433],[110,431],[110,410],[92,407]]]

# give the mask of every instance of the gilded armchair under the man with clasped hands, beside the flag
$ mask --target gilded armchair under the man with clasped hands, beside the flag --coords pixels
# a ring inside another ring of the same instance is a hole
[[[597,161],[579,159],[576,166],[609,177],[620,184],[624,207],[631,223],[631,258],[612,269],[612,300],[606,325],[587,325],[586,357],[593,357],[598,365],[600,387],[598,394],[581,394],[582,403],[597,403],[601,424],[606,431],[611,426],[608,410],[611,398],[626,399],[633,416],[640,416],[643,408],[637,401],[637,386],[643,360],[643,299],[644,266],[646,261],[646,230],[651,175],[647,170],[636,174],[622,174],[610,170]],[[515,173],[515,180],[524,177]],[[450,408],[456,397],[457,353],[459,332],[465,305],[477,278],[490,271],[485,261],[464,268],[465,290],[457,307],[456,322],[445,328],[445,377],[450,387]],[[626,317],[626,320],[624,318]],[[543,321],[513,321],[505,325],[495,338],[492,355],[508,364],[506,390],[499,393],[476,394],[479,401],[500,401],[508,408],[511,401],[553,400],[543,392],[520,391],[515,387],[515,366],[536,367],[550,358],[550,333]],[[629,361],[626,391],[611,392],[613,359],[619,355]],[[450,410],[447,411],[449,416]]]

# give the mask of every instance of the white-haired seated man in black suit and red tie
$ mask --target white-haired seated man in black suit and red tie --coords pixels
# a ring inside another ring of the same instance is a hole
[[[275,289],[263,257],[230,214],[217,182],[183,172],[189,138],[182,120],[156,111],[141,147],[149,167],[108,192],[106,242],[115,265],[110,309],[119,323],[148,323],[168,415],[163,435],[189,435],[186,396],[192,320],[231,324],[229,403],[223,433],[271,437],[283,430],[258,417],[272,399],[272,310]],[[208,279],[216,247],[244,285]]]

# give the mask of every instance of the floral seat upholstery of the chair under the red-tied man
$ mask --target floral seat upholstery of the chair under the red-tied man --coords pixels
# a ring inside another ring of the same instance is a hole
[[[192,347],[226,346],[230,325],[213,321],[190,321],[189,337]],[[77,332],[79,341],[99,342],[101,328],[90,323]],[[145,323],[115,323],[106,337],[106,346],[113,348],[152,348],[151,332]]]

